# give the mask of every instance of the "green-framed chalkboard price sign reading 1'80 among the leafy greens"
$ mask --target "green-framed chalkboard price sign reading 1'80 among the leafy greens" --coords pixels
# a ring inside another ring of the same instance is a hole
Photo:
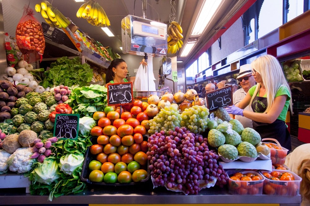
[[[77,139],[79,114],[56,114],[54,136],[61,139]]]

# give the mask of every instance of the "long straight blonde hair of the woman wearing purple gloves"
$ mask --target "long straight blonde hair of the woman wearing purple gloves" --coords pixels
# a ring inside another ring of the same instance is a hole
[[[286,81],[282,67],[276,57],[273,57],[271,55],[258,57],[251,63],[251,67],[260,74],[263,84],[266,88],[267,108],[264,113],[267,113],[274,103],[274,98],[276,96],[277,90],[281,86],[287,87],[288,91],[290,92],[289,83]],[[262,83],[257,84],[252,99],[250,101],[250,105],[252,104],[255,96],[258,94],[261,84]],[[290,97],[291,96],[292,95],[290,92]],[[290,98],[290,111],[293,111],[292,98]]]

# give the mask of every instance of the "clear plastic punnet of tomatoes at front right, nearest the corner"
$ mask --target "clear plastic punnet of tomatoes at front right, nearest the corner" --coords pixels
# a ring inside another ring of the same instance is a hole
[[[261,170],[264,177],[263,193],[266,195],[295,196],[299,194],[301,178],[287,170]]]

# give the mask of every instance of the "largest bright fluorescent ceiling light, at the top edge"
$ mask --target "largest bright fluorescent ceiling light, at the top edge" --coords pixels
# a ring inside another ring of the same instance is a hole
[[[205,0],[190,36],[200,36],[222,0]]]

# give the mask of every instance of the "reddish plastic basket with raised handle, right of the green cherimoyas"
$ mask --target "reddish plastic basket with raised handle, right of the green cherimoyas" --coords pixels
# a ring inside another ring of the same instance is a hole
[[[271,141],[277,142],[277,144],[271,143],[271,142],[264,142],[264,143],[270,149],[270,159],[271,159],[272,164],[283,165],[285,162],[287,152],[289,150],[284,148],[284,147],[281,147],[280,143],[276,139],[273,139],[273,138],[262,139],[262,141],[264,141],[264,140],[271,140]]]

